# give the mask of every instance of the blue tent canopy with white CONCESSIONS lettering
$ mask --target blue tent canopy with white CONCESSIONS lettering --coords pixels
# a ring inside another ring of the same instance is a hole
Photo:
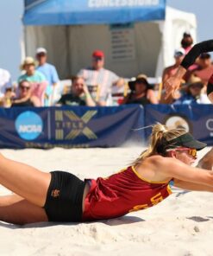
[[[24,25],[82,25],[165,19],[166,0],[25,0]]]

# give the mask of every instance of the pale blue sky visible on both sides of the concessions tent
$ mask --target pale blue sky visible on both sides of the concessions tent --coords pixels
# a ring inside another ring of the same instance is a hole
[[[213,37],[211,32],[213,1],[167,0],[167,5],[196,14],[198,42]],[[0,67],[9,70],[12,80],[16,80],[20,74],[22,12],[22,0],[0,1],[0,31],[2,35],[0,40]]]

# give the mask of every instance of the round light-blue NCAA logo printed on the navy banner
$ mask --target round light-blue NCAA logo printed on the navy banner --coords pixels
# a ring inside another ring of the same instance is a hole
[[[18,135],[26,140],[34,140],[43,130],[41,117],[32,111],[22,112],[15,121]]]

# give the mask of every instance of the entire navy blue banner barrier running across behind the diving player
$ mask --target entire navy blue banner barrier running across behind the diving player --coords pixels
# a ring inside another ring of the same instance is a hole
[[[145,144],[157,122],[184,127],[213,145],[212,105],[0,108],[0,148],[116,147]]]

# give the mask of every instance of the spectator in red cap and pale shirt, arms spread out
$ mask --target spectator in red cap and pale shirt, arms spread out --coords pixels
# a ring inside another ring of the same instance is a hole
[[[78,76],[85,79],[88,86],[100,86],[100,98],[97,104],[106,106],[110,97],[111,86],[123,86],[124,80],[119,78],[115,73],[104,68],[103,51],[96,50],[92,54],[92,67],[81,69]]]

